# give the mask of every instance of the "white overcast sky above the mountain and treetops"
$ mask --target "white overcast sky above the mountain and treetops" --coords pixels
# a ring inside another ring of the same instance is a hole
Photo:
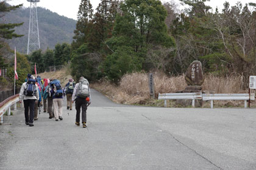
[[[2,0],[0,0],[2,1]],[[16,4],[23,4],[24,7],[29,7],[30,2],[27,2],[27,0],[7,0],[10,4],[16,5]],[[179,2],[179,0],[174,0],[175,2]],[[231,5],[235,5],[237,0],[227,0]],[[256,0],[240,0],[243,5],[249,2],[256,2]],[[96,9],[98,7],[99,2],[101,0],[91,0],[91,4],[93,5],[93,8]],[[168,2],[166,0],[162,0],[162,2]],[[210,5],[213,9],[218,6],[220,9],[222,9],[222,6],[224,4],[224,0],[211,0],[210,2],[207,2],[207,5]],[[38,2],[38,7],[44,7],[46,9],[51,10],[52,12],[56,12],[59,15],[64,15],[68,18],[77,19],[77,12],[79,8],[80,0],[40,0]],[[180,8],[182,6],[180,5]]]

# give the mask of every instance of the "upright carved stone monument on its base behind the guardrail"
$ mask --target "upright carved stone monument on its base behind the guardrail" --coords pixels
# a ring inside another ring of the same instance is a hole
[[[194,61],[190,64],[185,74],[187,87],[185,90],[177,91],[177,93],[200,93],[202,92],[202,83],[204,83],[204,74],[202,73],[202,63]],[[191,99],[176,100],[176,104],[183,106],[191,105]],[[202,107],[202,100],[195,100],[195,107]]]

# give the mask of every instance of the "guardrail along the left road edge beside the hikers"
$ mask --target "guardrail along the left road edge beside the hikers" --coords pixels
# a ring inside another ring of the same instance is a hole
[[[16,103],[19,102],[20,94],[11,96],[0,103],[0,123],[4,122],[4,113],[7,112],[7,116],[10,116],[10,107],[14,105],[14,110],[16,110]]]

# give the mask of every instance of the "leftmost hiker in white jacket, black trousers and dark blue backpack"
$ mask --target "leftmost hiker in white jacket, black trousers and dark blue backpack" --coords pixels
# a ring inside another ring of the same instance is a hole
[[[39,100],[39,90],[35,84],[35,77],[27,74],[27,82],[24,82],[20,90],[20,103],[24,103],[25,123],[29,126],[34,126],[34,108],[35,101]],[[29,114],[30,110],[30,114]]]

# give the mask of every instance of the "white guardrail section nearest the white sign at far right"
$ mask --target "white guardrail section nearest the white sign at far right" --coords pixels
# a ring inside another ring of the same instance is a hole
[[[244,101],[244,107],[247,107],[248,100],[255,100],[254,93],[230,93],[230,94],[202,94],[203,101],[210,101],[213,108],[213,101]]]

